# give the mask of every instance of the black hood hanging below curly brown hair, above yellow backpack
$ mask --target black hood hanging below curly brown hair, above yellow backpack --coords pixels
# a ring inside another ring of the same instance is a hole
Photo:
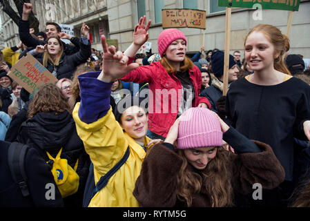
[[[67,144],[74,126],[72,116],[64,111],[63,113],[37,113],[23,123],[22,129],[28,131],[30,140],[39,148],[49,151]]]

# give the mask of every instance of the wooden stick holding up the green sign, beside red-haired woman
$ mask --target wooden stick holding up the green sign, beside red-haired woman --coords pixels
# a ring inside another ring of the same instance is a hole
[[[231,8],[226,7],[226,26],[225,26],[225,49],[224,49],[224,77],[223,95],[226,96],[229,81],[229,44],[231,41]]]

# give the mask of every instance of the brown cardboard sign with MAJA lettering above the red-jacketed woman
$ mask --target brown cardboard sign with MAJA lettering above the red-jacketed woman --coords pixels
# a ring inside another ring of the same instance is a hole
[[[191,9],[162,9],[162,28],[206,29],[206,11]]]

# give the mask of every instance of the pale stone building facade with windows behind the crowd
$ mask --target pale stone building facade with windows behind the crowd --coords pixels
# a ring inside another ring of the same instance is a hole
[[[31,1],[34,12],[40,21],[39,30],[44,30],[46,21],[72,25],[75,36],[84,22],[93,35],[93,48],[102,50],[100,35],[117,39],[119,50],[133,41],[133,28],[139,17],[146,15],[152,20],[149,29],[152,52],[157,52],[157,37],[162,32],[162,9],[190,8],[206,11],[206,30],[180,28],[188,39],[188,52],[197,52],[204,44],[205,50],[218,48],[224,50],[225,8],[217,6],[217,0],[36,0]],[[11,4],[12,6],[14,3]],[[293,12],[289,33],[291,50],[289,52],[310,57],[310,0],[300,0],[298,12]],[[18,28],[5,13],[1,12],[3,38],[6,46],[18,44]],[[289,11],[233,8],[231,14],[231,54],[234,50],[243,52],[246,34],[258,23],[269,23],[285,33]]]

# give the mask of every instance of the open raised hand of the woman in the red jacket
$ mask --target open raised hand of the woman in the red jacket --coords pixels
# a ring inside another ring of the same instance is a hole
[[[146,41],[148,41],[148,28],[150,28],[151,20],[148,20],[148,23],[144,27],[146,21],[146,16],[139,19],[139,24],[135,26],[133,31],[133,44],[137,46],[142,46]]]

